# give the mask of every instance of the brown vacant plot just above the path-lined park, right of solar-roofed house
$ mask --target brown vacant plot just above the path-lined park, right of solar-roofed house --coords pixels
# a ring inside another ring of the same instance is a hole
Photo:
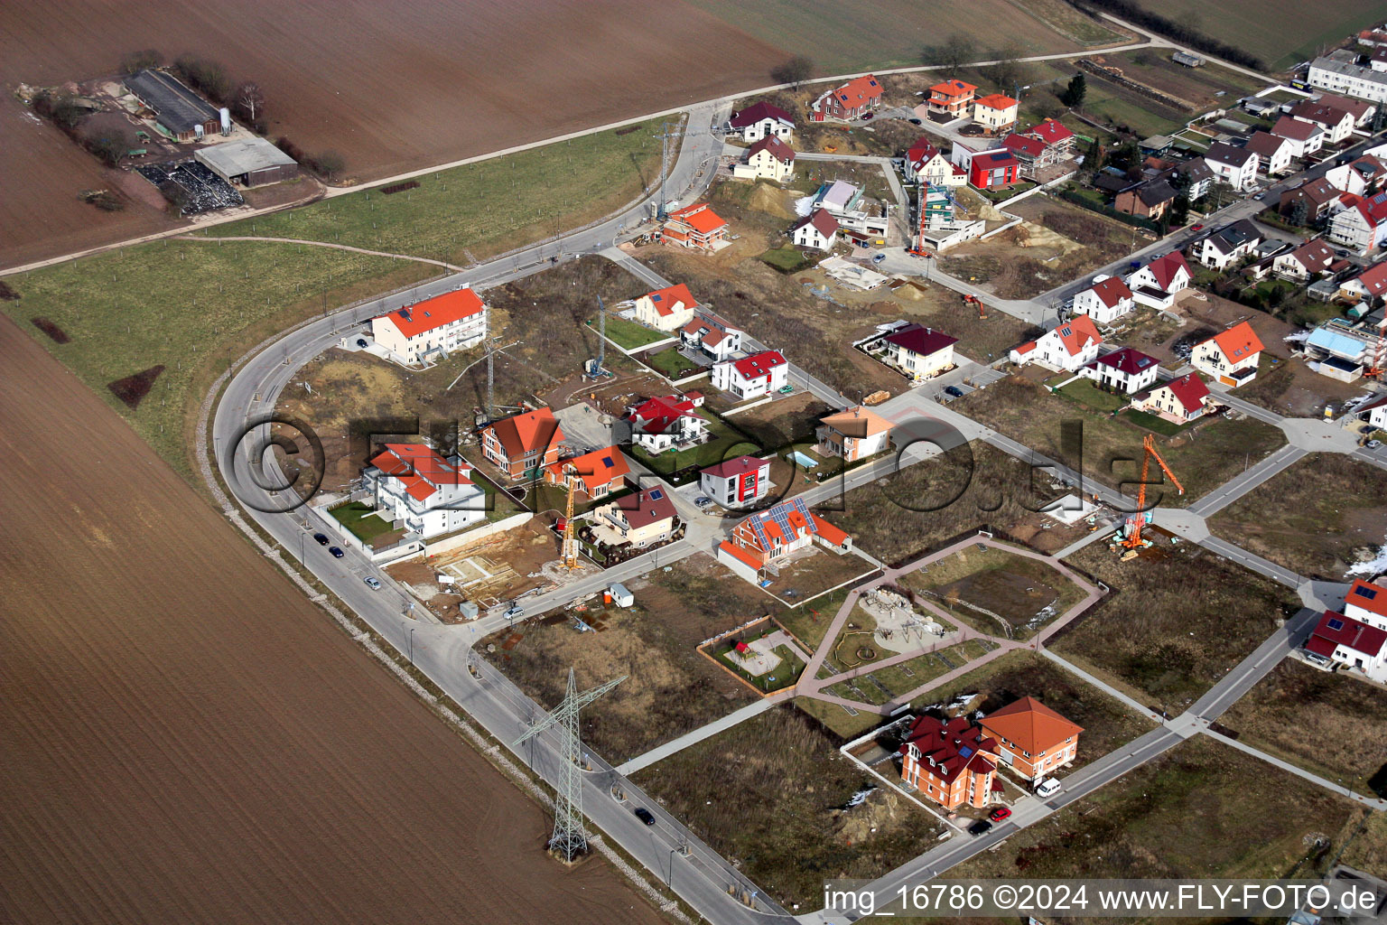
[[[899,566],[979,528],[1006,531],[1061,496],[1047,480],[1035,481],[1032,490],[1029,466],[979,441],[856,488],[820,513],[859,548]]]

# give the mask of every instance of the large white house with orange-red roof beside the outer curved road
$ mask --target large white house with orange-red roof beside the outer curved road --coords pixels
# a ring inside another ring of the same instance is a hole
[[[423,539],[469,527],[487,516],[487,492],[460,458],[444,459],[423,444],[386,444],[362,473],[380,516]]]

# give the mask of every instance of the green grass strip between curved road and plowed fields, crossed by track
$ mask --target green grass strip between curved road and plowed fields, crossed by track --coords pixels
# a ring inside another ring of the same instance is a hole
[[[362,190],[205,234],[340,241],[466,263],[467,251],[494,254],[635,198],[659,166],[660,147],[646,136],[606,132],[430,175],[408,193]],[[515,179],[534,175],[546,180]],[[190,477],[197,408],[229,362],[305,318],[437,272],[333,248],[162,240],[11,276],[19,300],[4,308]],[[71,343],[39,334],[33,316],[51,319]],[[137,408],[107,390],[154,366],[164,372]]]

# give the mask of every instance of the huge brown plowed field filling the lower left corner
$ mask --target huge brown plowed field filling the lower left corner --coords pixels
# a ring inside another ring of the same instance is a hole
[[[548,861],[541,810],[4,318],[0,356],[0,921],[662,921]]]

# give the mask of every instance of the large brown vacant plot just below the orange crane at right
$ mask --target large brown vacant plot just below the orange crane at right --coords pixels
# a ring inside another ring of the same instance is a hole
[[[1294,592],[1207,549],[1155,545],[1121,562],[1107,544],[1065,564],[1111,592],[1050,648],[1139,702],[1180,713],[1300,610]]]

